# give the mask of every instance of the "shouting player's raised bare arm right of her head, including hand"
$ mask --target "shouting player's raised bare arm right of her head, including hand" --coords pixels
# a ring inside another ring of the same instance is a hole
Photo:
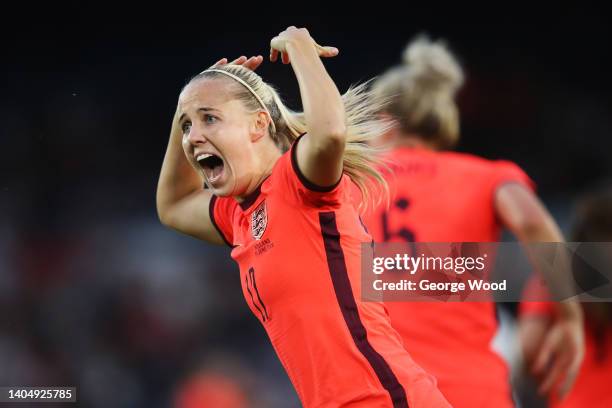
[[[325,70],[321,57],[338,54],[333,47],[321,47],[305,28],[289,27],[270,42],[270,59],[281,53],[297,77],[307,134],[297,147],[300,171],[312,183],[326,187],[342,176],[346,143],[346,114],[336,84]]]

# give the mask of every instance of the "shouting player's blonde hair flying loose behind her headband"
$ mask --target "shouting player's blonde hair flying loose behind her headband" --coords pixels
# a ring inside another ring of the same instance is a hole
[[[220,70],[225,72],[218,72]],[[215,66],[193,77],[190,83],[202,78],[224,77],[240,79],[233,81],[237,83],[234,97],[242,101],[248,110],[256,112],[263,109],[268,112],[273,122],[268,132],[282,152],[289,150],[291,144],[308,131],[302,112],[292,111],[285,106],[272,85],[264,82],[254,71],[241,65]],[[370,146],[370,142],[387,132],[392,125],[391,122],[378,118],[378,112],[383,106],[372,98],[368,83],[351,87],[342,95],[342,99],[347,121],[343,171],[361,190],[363,200],[360,209],[363,210],[369,204],[377,204],[387,195],[387,183],[378,171],[381,165],[380,150]],[[381,192],[383,194],[376,194]]]

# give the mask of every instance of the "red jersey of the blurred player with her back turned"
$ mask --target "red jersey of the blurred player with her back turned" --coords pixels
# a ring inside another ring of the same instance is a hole
[[[510,182],[534,188],[507,161],[408,148],[390,152],[387,159],[390,206],[364,216],[376,242],[499,241],[497,188]],[[508,368],[491,350],[497,328],[493,303],[388,302],[386,307],[406,349],[438,379],[454,407],[513,406]]]

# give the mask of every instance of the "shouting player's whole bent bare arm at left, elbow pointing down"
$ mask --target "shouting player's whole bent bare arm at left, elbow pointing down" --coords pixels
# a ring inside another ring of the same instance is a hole
[[[204,241],[223,244],[209,215],[212,193],[203,189],[202,178],[185,157],[178,118],[177,108],[157,183],[157,214],[167,227]]]

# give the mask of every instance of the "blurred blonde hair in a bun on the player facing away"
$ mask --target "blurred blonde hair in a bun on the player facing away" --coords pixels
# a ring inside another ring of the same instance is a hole
[[[373,93],[388,100],[382,112],[391,114],[403,133],[446,149],[459,139],[455,96],[463,82],[463,70],[446,44],[420,35],[404,50],[403,65],[376,80]]]

